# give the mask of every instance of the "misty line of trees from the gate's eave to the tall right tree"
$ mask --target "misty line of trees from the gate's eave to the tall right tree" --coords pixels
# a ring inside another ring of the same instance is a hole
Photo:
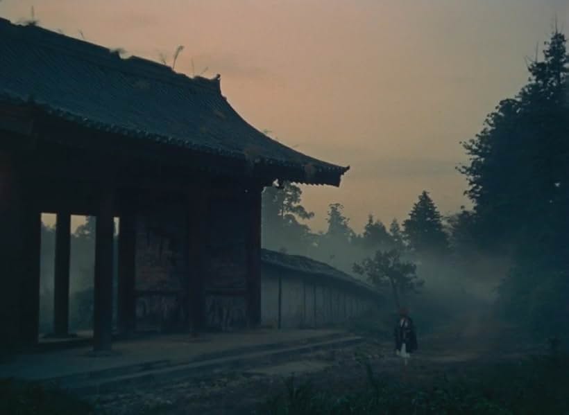
[[[569,55],[554,30],[543,58],[529,60],[529,78],[462,143],[468,163],[465,194],[473,209],[443,218],[427,192],[400,227],[370,215],[361,234],[341,204],[330,204],[328,229],[314,233],[313,217],[294,184],[263,195],[265,247],[303,254],[346,272],[376,251],[397,250],[417,265],[425,288],[446,277],[454,297],[469,281],[498,286],[495,312],[540,338],[569,328]],[[468,99],[468,97],[465,97]],[[446,297],[446,299],[451,299]]]

